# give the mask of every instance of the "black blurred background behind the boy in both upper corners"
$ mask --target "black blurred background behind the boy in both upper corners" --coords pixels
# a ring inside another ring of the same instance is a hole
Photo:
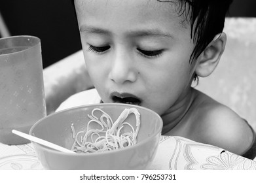
[[[41,39],[43,67],[82,48],[71,0],[1,0],[0,12],[10,35]],[[234,0],[229,16],[256,17],[256,1]]]

